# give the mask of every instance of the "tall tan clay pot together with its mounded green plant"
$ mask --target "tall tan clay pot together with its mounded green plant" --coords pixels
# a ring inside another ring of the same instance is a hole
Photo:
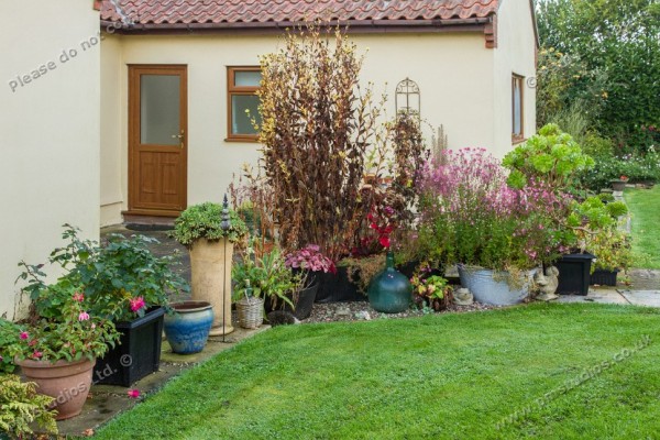
[[[188,207],[174,221],[170,233],[188,248],[193,299],[210,302],[215,310],[211,336],[228,334],[231,326],[231,263],[233,245],[248,233],[238,213],[224,206],[204,202]]]

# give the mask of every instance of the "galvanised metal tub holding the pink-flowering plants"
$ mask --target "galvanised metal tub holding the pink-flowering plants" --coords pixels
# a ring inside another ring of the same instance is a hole
[[[525,271],[526,279],[510,279],[508,272],[495,272],[483,267],[464,266],[459,264],[461,285],[470,289],[474,300],[495,306],[519,304],[529,296],[531,277],[536,271]]]

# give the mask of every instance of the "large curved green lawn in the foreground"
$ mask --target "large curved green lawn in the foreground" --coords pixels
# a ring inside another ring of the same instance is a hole
[[[657,309],[535,304],[278,327],[175,378],[97,438],[658,438],[659,319]],[[648,346],[626,351],[645,337]],[[498,429],[515,411],[526,416]]]

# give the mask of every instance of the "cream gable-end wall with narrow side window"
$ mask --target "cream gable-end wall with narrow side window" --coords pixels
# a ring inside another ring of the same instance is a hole
[[[525,77],[525,138],[536,133],[536,37],[529,0],[503,0],[497,14],[495,50],[495,154],[512,148],[512,74]]]

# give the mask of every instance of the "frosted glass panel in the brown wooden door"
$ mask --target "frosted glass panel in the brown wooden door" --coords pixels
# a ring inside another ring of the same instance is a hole
[[[140,143],[179,145],[178,75],[140,76]]]

